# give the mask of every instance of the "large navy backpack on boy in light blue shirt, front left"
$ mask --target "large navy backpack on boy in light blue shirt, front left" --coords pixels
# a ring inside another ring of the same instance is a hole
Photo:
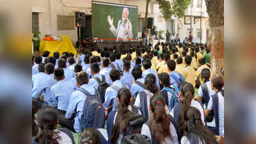
[[[104,106],[100,100],[99,92],[96,90],[95,95],[91,95],[84,88],[78,89],[86,95],[84,102],[84,111],[79,119],[80,128],[83,130],[87,127],[103,128],[105,124]]]

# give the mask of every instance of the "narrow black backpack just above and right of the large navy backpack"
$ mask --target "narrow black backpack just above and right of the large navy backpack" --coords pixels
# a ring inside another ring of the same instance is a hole
[[[100,81],[99,77],[93,77],[93,79],[95,79],[99,83],[98,91],[100,93],[100,99],[103,104],[105,102],[105,93],[109,85],[108,83],[106,83],[106,78],[103,75],[102,75],[102,81]]]

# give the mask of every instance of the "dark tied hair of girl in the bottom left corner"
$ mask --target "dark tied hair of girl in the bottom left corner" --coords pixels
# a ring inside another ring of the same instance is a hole
[[[59,144],[57,140],[61,140],[61,137],[54,131],[58,122],[57,110],[51,106],[45,106],[40,109],[36,120],[41,131],[36,134],[35,141],[38,144]]]

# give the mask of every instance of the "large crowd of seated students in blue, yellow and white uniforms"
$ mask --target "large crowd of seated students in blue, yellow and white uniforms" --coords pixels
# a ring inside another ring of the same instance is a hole
[[[223,143],[224,69],[212,76],[207,45],[82,52],[32,57],[33,143]]]

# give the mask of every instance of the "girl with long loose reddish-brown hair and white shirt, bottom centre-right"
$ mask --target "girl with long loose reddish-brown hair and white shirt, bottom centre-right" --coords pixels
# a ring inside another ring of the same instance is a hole
[[[178,144],[178,134],[175,126],[166,113],[165,101],[162,95],[154,95],[150,99],[151,118],[143,124],[141,134],[145,134],[150,140],[159,144]]]

